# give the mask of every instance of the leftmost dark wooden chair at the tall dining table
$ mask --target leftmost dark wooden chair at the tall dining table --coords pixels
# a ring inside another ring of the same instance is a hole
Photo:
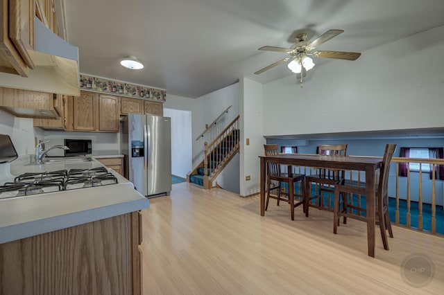
[[[266,156],[275,156],[279,154],[278,145],[264,145],[265,155]],[[265,210],[268,208],[268,201],[271,199],[278,200],[279,202],[282,200],[290,204],[291,211],[291,220],[294,220],[294,208],[302,205],[304,207],[304,212],[307,212],[305,208],[305,175],[303,174],[295,174],[291,171],[291,167],[288,167],[288,173],[284,173],[281,170],[281,166],[279,163],[268,162],[267,172],[266,172],[266,205]],[[302,185],[302,194],[300,195],[301,200],[295,204],[294,202],[294,184],[300,181]],[[286,197],[282,197],[284,193],[282,193],[282,184],[287,184],[288,193],[285,193]],[[277,190],[276,195],[271,195],[272,190]]]

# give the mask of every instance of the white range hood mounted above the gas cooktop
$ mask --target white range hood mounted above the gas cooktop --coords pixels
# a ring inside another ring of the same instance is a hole
[[[34,19],[35,44],[31,52],[35,69],[28,77],[0,73],[0,86],[80,96],[78,48],[58,37]]]

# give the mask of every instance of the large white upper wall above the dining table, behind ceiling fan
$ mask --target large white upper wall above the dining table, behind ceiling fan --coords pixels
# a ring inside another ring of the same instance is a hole
[[[264,134],[443,127],[444,26],[264,85]]]

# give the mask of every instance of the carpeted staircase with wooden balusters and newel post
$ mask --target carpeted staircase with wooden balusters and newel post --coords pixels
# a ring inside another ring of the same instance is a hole
[[[239,116],[237,116],[212,143],[204,143],[204,159],[187,175],[187,181],[205,189],[212,188],[214,179],[239,152],[239,135]]]

